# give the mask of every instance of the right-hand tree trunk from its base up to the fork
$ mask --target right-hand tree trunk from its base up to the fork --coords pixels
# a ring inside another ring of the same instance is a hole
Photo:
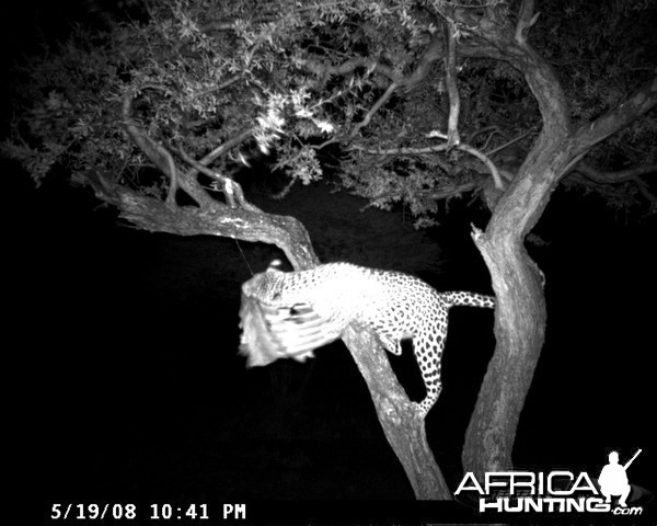
[[[483,474],[512,467],[520,412],[545,339],[543,276],[523,240],[540,218],[570,153],[543,132],[499,201],[485,233],[475,233],[497,296],[497,345],[465,435],[463,467]]]

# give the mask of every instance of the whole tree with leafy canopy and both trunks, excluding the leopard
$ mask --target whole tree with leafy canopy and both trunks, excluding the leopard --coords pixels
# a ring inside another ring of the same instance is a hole
[[[546,316],[525,242],[551,193],[563,182],[654,211],[643,175],[656,170],[655,8],[224,3],[143,3],[140,20],[78,26],[32,57],[4,152],[37,183],[66,170],[138,228],[273,243],[295,268],[319,260],[299,221],[247,201],[235,173],[252,156],[288,176],[281,194],[325,176],[373,206],[407,207],[418,227],[474,192],[492,211],[473,239],[497,296],[497,346],[463,464],[510,467]],[[415,494],[449,498],[384,353],[362,328],[344,341]]]

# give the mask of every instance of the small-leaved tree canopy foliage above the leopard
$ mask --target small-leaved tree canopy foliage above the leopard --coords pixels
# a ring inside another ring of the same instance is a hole
[[[466,3],[500,16],[517,9]],[[171,151],[200,159],[233,146],[215,161],[227,174],[242,156],[275,153],[274,168],[291,182],[330,174],[374,206],[403,203],[418,225],[430,224],[442,199],[481,191],[489,179],[480,159],[437,148],[430,137],[449,116],[441,4],[154,1],[143,4],[141,21],[102,32],[77,25],[21,65],[15,126],[3,151],[37,182],[60,165],[77,181],[94,172],[164,197],[169,175],[152,170],[125,134],[122,105],[131,96],[137,125]],[[532,41],[560,72],[574,125],[609,111],[653,75],[649,2],[542,8]],[[457,39],[466,36],[461,27]],[[458,81],[461,137],[512,178],[541,126],[521,73],[461,53]],[[595,169],[568,184],[647,209],[655,203],[648,182],[606,181],[600,171],[654,165],[655,138],[654,117],[636,121],[591,152]],[[185,163],[180,155],[176,162]]]

